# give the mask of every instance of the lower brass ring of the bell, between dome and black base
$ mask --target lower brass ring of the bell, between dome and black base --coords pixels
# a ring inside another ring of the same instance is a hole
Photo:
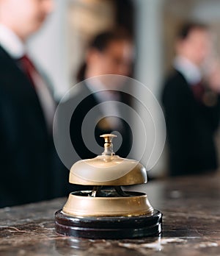
[[[145,193],[128,192],[118,197],[114,191],[103,191],[103,197],[92,197],[92,191],[70,193],[63,213],[77,217],[140,216],[153,214],[153,207]]]

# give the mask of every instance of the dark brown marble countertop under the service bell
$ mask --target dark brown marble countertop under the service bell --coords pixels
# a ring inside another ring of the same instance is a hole
[[[178,177],[131,188],[163,216],[160,237],[91,240],[59,235],[66,199],[0,209],[0,255],[220,255],[220,176]]]

